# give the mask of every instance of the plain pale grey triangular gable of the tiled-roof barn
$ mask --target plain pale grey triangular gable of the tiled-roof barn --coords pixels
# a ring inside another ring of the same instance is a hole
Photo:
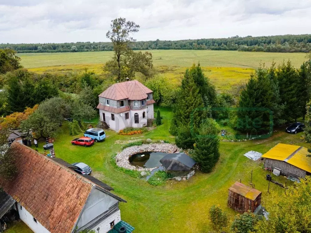
[[[113,206],[117,202],[117,199],[94,188],[91,191],[89,198],[87,199],[86,206],[84,207],[84,210],[78,221],[78,229],[86,225],[88,222],[91,222],[100,214],[107,211],[109,207]]]

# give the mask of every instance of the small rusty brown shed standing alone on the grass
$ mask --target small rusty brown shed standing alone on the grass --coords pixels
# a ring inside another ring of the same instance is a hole
[[[229,188],[228,206],[240,213],[254,212],[261,203],[261,192],[240,182]]]

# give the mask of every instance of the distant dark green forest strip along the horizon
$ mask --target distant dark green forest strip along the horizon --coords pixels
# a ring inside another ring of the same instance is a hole
[[[132,50],[183,49],[183,50],[237,50],[248,52],[272,53],[309,53],[311,34],[276,35],[276,36],[233,36],[219,39],[186,39],[135,41]],[[113,51],[111,42],[76,42],[76,43],[1,43],[0,49],[10,48],[17,53],[59,53]]]

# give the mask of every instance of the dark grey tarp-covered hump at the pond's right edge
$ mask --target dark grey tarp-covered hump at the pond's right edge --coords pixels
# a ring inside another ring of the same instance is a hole
[[[172,153],[165,155],[160,163],[168,171],[189,171],[196,162],[185,153]]]

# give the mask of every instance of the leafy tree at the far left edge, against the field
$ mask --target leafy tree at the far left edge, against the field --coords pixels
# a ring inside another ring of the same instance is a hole
[[[0,49],[0,74],[21,68],[21,58],[15,55],[15,51],[9,48]]]

